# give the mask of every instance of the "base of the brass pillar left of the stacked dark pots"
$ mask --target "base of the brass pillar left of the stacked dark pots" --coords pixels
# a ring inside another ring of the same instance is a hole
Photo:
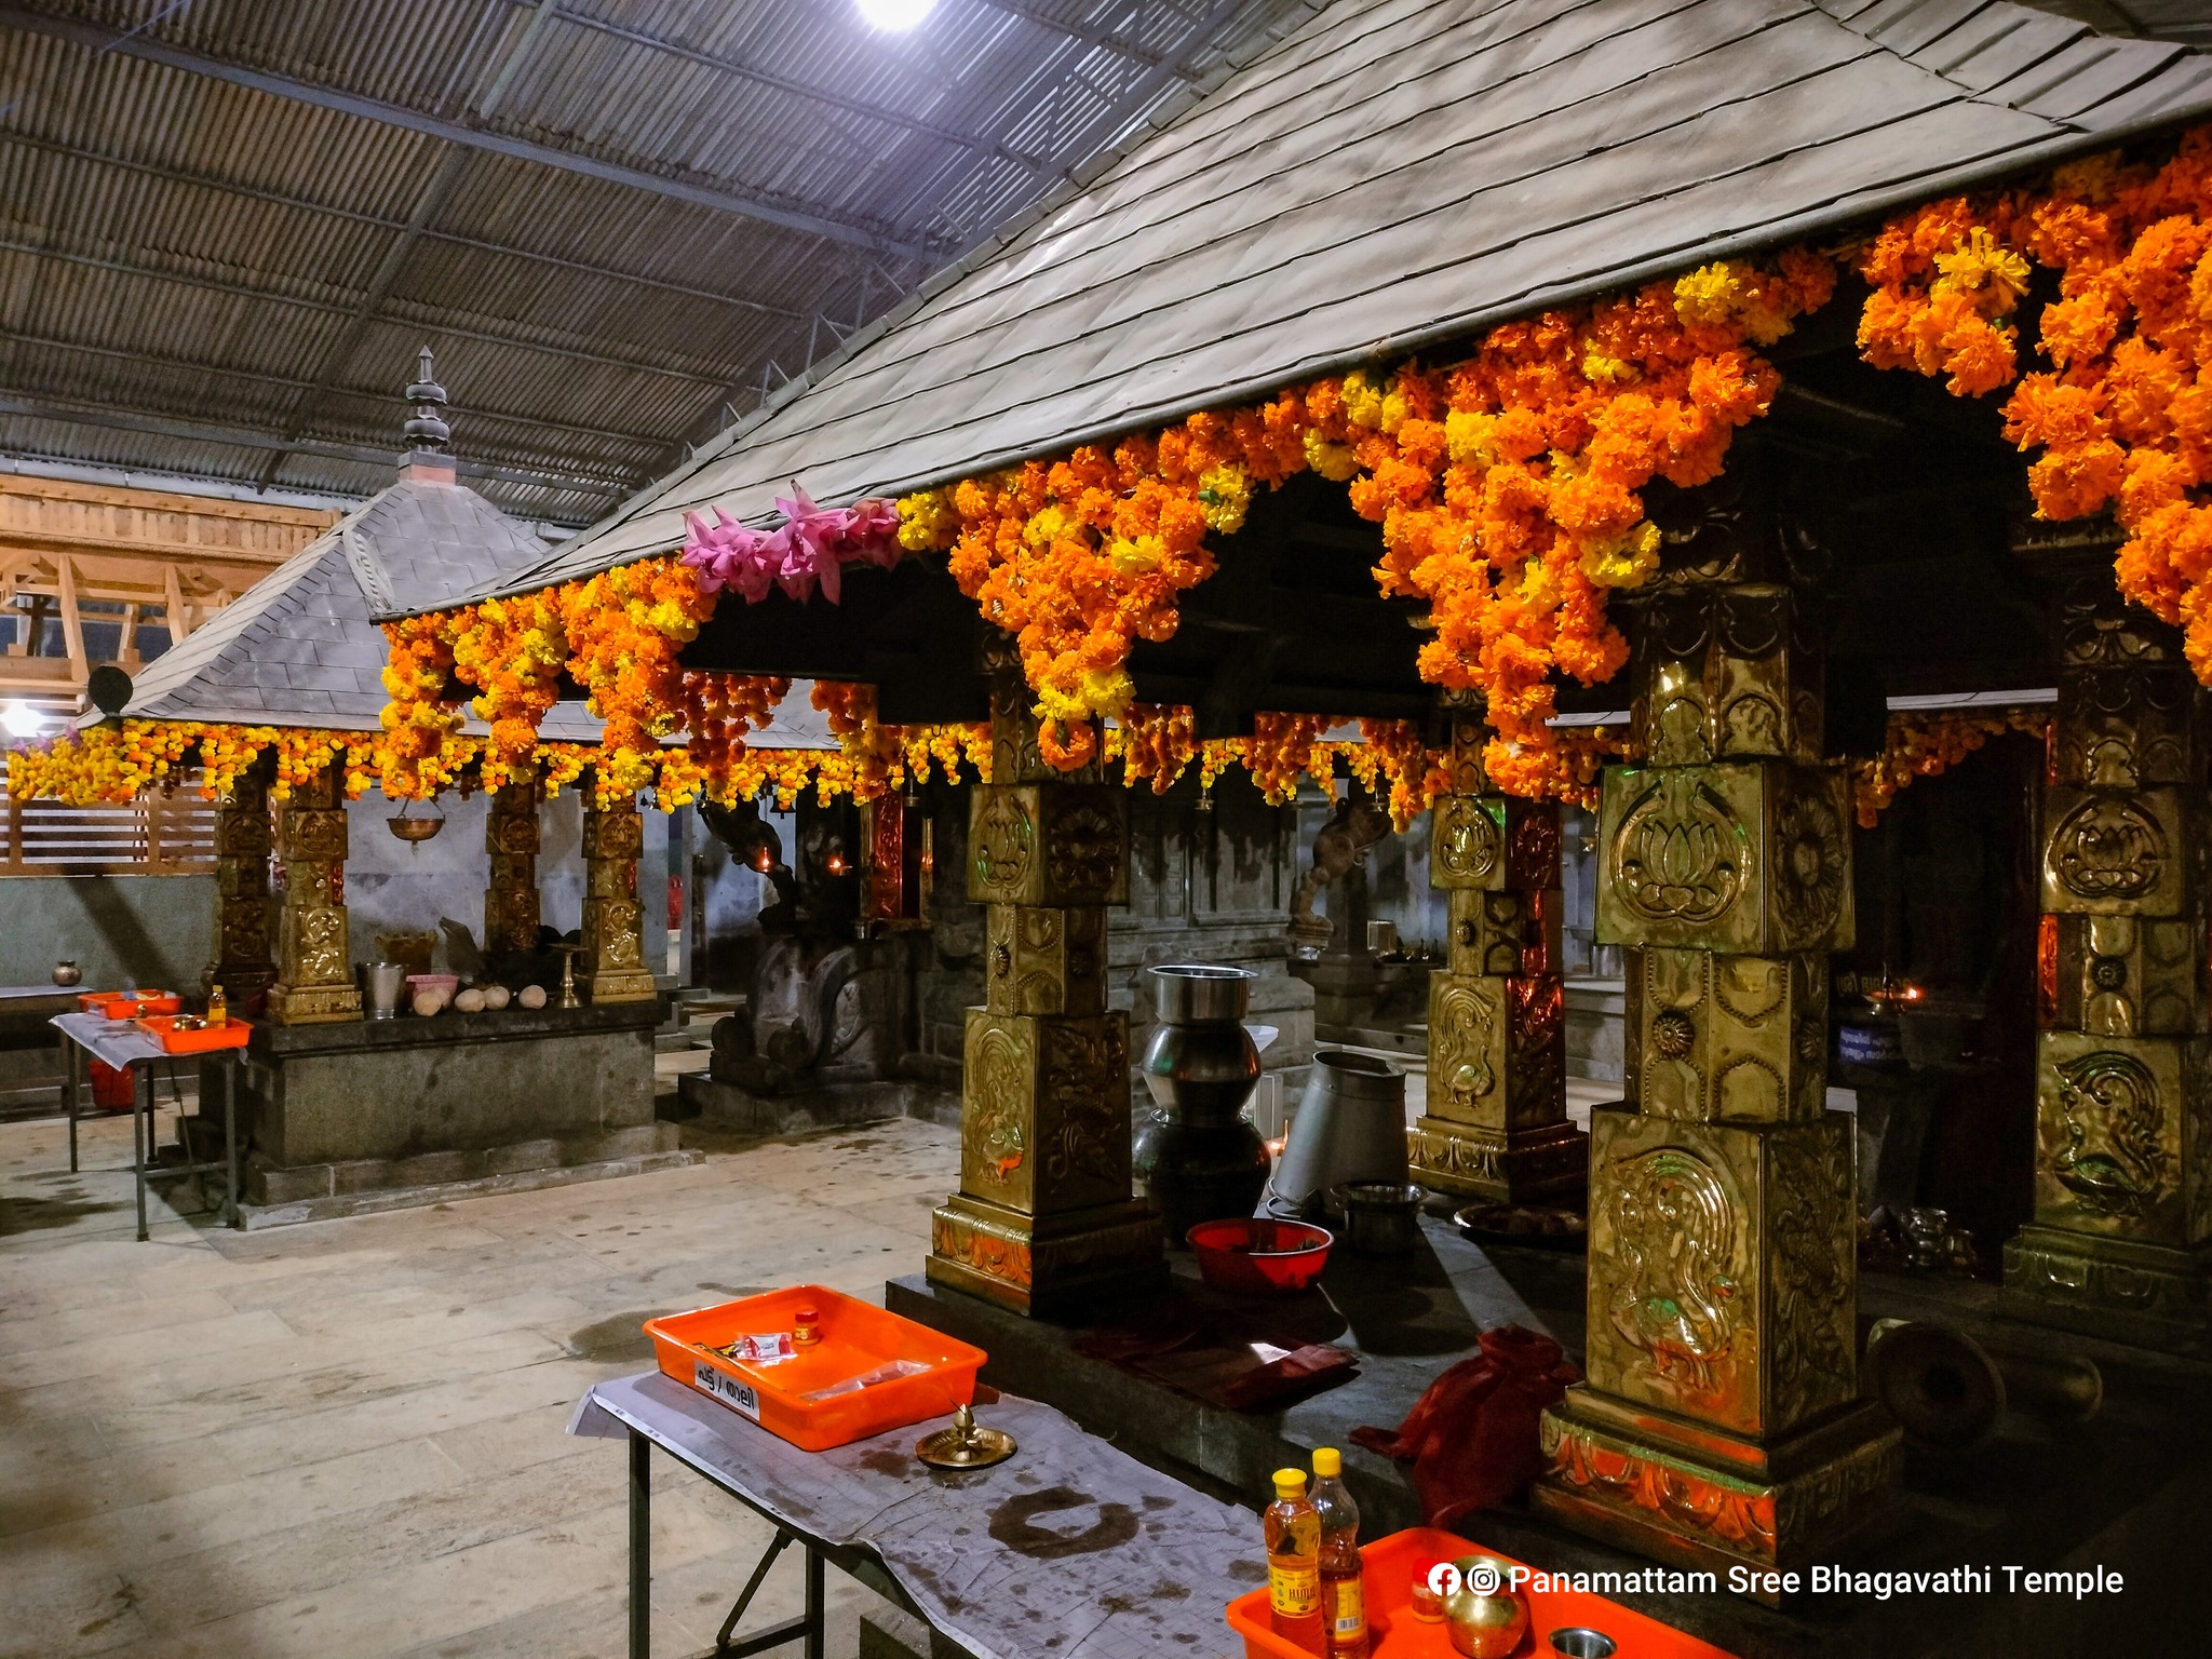
[[[1099,1203],[1031,1217],[956,1194],[929,1217],[929,1283],[1048,1318],[1126,1290],[1166,1283],[1159,1217],[1144,1203]]]

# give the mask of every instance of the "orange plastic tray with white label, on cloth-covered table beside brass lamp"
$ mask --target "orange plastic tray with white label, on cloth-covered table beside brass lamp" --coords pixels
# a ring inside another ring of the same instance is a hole
[[[821,1343],[779,1365],[708,1352],[728,1347],[739,1336],[787,1332],[801,1307],[821,1314]],[[975,1371],[984,1363],[980,1347],[823,1285],[792,1285],[719,1307],[648,1318],[646,1336],[653,1338],[661,1371],[805,1451],[827,1451],[971,1405]],[[891,1360],[920,1360],[929,1369],[830,1400],[799,1398]]]

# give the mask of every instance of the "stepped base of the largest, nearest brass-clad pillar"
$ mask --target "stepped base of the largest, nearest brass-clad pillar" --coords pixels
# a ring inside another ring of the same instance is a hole
[[[1544,1413],[1544,1460],[1537,1511],[1723,1588],[1730,1568],[1787,1573],[1880,1531],[1905,1473],[1902,1431],[1871,1400],[1761,1442],[1586,1383]]]

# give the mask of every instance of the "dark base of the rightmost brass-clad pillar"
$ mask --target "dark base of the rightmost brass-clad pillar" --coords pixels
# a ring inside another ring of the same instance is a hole
[[[1997,1312],[2166,1354],[2212,1349],[2212,1245],[2024,1225],[2004,1245]]]

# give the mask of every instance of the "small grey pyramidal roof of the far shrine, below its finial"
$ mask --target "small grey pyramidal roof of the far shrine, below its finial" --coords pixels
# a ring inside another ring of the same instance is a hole
[[[124,717],[376,730],[385,635],[372,608],[451,599],[542,551],[473,489],[403,478],[155,657]],[[597,721],[566,723],[580,730],[546,737],[599,737]]]

